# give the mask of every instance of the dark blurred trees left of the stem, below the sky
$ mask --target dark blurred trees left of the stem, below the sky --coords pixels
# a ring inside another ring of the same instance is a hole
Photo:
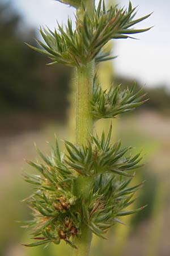
[[[44,119],[65,118],[71,69],[59,64],[45,67],[48,59],[24,44],[35,46],[36,36],[9,4],[0,3],[2,118],[20,113]]]

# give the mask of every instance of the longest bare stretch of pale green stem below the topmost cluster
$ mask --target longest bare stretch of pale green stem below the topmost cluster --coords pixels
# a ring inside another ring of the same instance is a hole
[[[92,132],[91,97],[94,82],[94,61],[76,68],[76,144],[90,139]]]

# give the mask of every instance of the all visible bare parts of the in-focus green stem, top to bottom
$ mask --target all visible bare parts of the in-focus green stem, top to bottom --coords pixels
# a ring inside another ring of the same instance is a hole
[[[86,11],[93,17],[95,11],[95,0],[85,0]],[[79,19],[83,18],[83,9],[77,10]],[[90,140],[92,133],[91,97],[94,84],[94,60],[82,67],[76,68],[76,135],[77,146],[86,144]],[[91,178],[79,176],[76,180],[76,189],[82,200],[86,200],[91,188]],[[82,220],[83,221],[83,220]],[[74,238],[77,249],[73,249],[73,256],[89,256],[92,240],[92,232],[86,224],[82,222],[81,236]]]

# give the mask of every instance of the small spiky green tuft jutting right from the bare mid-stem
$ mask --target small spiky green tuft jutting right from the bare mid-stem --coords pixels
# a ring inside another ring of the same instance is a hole
[[[142,100],[146,94],[142,94],[143,88],[137,93],[134,92],[135,83],[131,88],[121,90],[121,85],[111,86],[109,90],[102,90],[100,84],[94,85],[92,97],[92,115],[95,120],[100,118],[116,118],[134,110],[147,100]]]

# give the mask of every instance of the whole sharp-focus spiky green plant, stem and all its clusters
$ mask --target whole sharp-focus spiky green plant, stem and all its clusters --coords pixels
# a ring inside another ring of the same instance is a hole
[[[25,175],[35,185],[35,191],[26,199],[33,218],[28,222],[35,242],[27,246],[45,245],[65,241],[73,247],[73,255],[90,253],[92,234],[105,238],[105,232],[118,220],[140,211],[125,208],[134,202],[134,193],[143,182],[129,185],[133,170],[141,167],[142,157],[131,155],[131,147],[111,143],[112,125],[107,135],[99,138],[93,126],[100,118],[116,118],[118,114],[133,110],[145,102],[141,91],[131,89],[120,92],[119,86],[101,89],[95,76],[95,63],[112,59],[103,47],[111,39],[126,39],[129,35],[150,28],[133,26],[149,15],[135,19],[135,8],[118,6],[105,8],[94,0],[62,1],[76,7],[76,28],[71,20],[63,28],[41,28],[45,43],[37,51],[47,55],[50,64],[63,63],[76,67],[76,138],[75,144],[65,141],[61,152],[56,138],[51,155],[45,156],[37,148],[44,163],[28,162],[39,175]]]

